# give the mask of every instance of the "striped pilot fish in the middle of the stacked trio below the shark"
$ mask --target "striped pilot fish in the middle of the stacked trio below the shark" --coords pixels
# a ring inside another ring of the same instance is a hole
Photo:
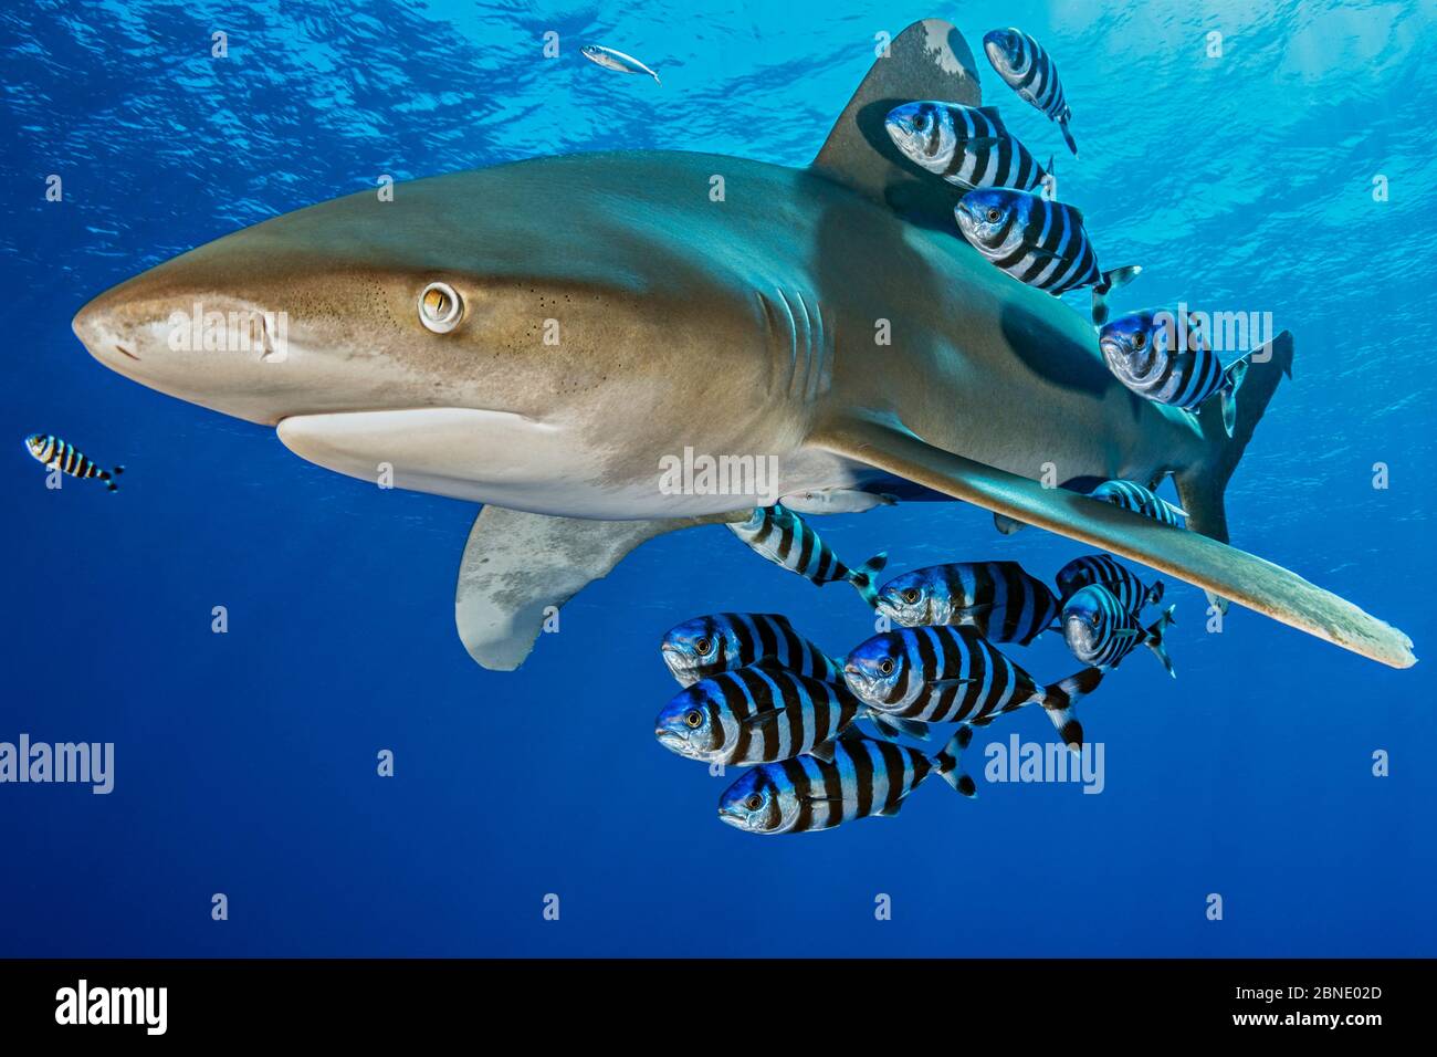
[[[867,712],[842,683],[741,667],[674,695],[654,720],[654,736],[665,749],[706,764],[772,764],[825,752]]]

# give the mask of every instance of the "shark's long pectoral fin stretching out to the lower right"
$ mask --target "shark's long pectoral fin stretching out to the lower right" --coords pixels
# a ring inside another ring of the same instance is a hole
[[[1219,427],[1221,429],[1221,427]],[[924,443],[900,423],[849,418],[810,443],[956,499],[1132,558],[1392,667],[1417,662],[1411,639],[1295,572],[1197,532]]]

